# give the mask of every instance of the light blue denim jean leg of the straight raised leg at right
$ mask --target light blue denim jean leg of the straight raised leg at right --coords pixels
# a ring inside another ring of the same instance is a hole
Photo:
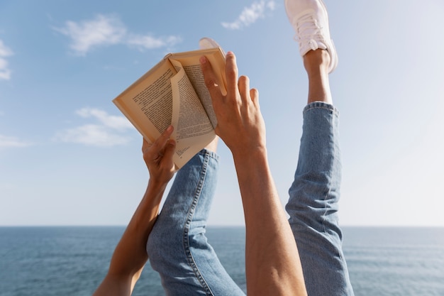
[[[330,104],[304,109],[294,182],[286,206],[309,296],[354,295],[338,226],[339,114]]]

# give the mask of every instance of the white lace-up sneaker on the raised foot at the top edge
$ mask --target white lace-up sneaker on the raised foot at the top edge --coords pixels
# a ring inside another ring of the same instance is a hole
[[[328,28],[328,13],[322,0],[285,0],[285,10],[296,31],[294,39],[299,43],[299,53],[304,56],[318,48],[330,54],[328,72],[338,65],[338,54]]]

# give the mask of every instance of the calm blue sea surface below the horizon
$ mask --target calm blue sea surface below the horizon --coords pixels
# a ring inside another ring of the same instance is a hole
[[[123,226],[0,227],[0,296],[89,296]],[[444,296],[444,228],[345,227],[357,296]],[[226,270],[245,290],[243,227],[209,227]],[[165,295],[148,264],[133,295]]]

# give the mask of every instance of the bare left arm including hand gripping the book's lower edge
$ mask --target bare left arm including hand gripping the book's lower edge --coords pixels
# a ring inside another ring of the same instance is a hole
[[[129,296],[148,261],[146,243],[157,219],[160,200],[174,175],[172,155],[175,144],[169,140],[172,127],[152,144],[143,141],[143,159],[150,171],[147,190],[111,258],[109,271],[93,296]]]

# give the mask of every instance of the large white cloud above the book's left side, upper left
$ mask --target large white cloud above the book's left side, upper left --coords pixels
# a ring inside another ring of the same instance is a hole
[[[89,21],[67,21],[64,27],[54,30],[69,37],[70,48],[82,56],[94,48],[109,45],[127,45],[144,50],[171,46],[181,40],[177,36],[155,38],[152,35],[130,33],[118,16],[103,14]]]

